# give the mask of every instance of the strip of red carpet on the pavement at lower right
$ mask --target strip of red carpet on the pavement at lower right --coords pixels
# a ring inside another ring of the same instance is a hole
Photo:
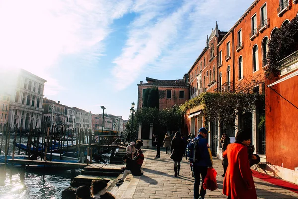
[[[252,170],[252,176],[298,194],[298,185]]]

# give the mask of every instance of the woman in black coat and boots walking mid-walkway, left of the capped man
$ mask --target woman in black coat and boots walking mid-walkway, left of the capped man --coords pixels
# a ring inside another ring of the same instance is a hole
[[[175,177],[177,177],[177,175],[179,176],[184,151],[184,141],[181,138],[180,132],[177,131],[171,143],[171,158],[174,160]]]

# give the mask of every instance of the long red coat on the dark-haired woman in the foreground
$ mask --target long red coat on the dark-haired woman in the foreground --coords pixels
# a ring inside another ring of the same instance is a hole
[[[223,193],[232,199],[257,199],[247,147],[238,143],[229,144],[224,152],[224,158],[228,159],[228,167]]]

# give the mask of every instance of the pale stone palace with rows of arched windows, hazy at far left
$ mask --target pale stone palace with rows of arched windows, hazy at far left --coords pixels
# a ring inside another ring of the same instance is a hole
[[[42,120],[42,101],[46,80],[23,69],[10,72],[8,83],[11,93],[8,122],[11,127],[28,129],[40,128]]]

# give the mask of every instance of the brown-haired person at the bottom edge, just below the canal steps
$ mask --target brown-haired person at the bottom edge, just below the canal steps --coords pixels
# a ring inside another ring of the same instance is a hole
[[[115,197],[107,192],[107,183],[103,180],[92,180],[90,189],[92,197],[95,199],[115,199]]]

